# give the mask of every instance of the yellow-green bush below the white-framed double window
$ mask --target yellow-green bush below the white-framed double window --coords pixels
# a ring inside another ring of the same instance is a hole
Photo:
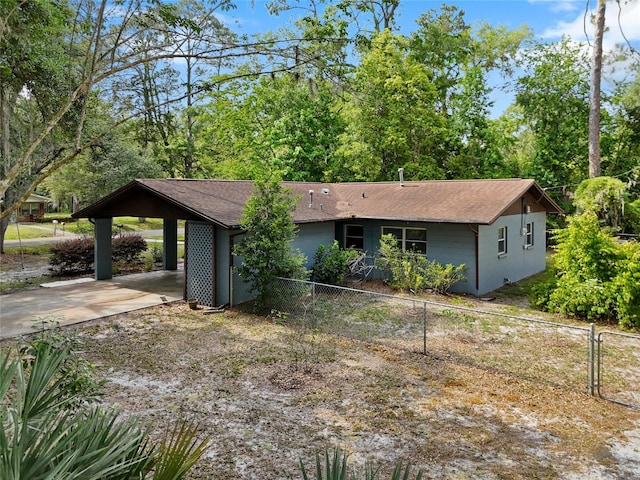
[[[417,292],[432,288],[447,293],[457,282],[463,281],[466,266],[441,265],[416,252],[403,252],[391,234],[380,237],[377,266],[386,270],[385,280],[393,288]]]

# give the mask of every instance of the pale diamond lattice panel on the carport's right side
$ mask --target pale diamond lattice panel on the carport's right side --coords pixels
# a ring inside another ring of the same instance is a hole
[[[187,298],[200,305],[215,306],[214,226],[187,223]]]

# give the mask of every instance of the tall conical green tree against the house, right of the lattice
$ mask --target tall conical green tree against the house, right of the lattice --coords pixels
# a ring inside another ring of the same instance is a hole
[[[278,179],[256,181],[254,192],[245,204],[240,226],[244,234],[234,247],[242,258],[240,276],[258,294],[258,308],[269,297],[278,277],[306,279],[305,256],[291,242],[297,235],[293,223],[296,199]]]

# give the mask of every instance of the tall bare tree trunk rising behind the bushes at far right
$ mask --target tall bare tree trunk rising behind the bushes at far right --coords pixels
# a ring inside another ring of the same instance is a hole
[[[596,11],[593,64],[591,66],[591,98],[589,101],[589,178],[599,177],[600,168],[600,83],[602,80],[602,38],[606,0],[598,0]]]

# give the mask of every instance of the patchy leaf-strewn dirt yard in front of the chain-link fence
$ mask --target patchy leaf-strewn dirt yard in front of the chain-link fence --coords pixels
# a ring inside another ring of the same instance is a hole
[[[180,303],[75,331],[106,405],[211,438],[190,478],[300,478],[335,446],[356,469],[411,462],[428,479],[640,476],[640,411],[280,323]]]

